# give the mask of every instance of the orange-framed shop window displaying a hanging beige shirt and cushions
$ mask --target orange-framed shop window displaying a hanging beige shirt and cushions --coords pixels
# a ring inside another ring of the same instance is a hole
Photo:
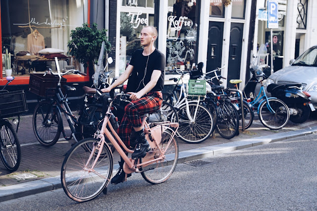
[[[54,56],[62,69],[73,65],[67,42],[70,31],[83,23],[84,0],[1,1],[2,53],[11,54],[12,74],[43,72],[54,66]]]

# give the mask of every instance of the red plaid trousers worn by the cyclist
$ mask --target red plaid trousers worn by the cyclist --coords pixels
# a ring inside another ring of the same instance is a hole
[[[124,107],[124,115],[117,132],[127,147],[130,146],[132,128],[142,126],[141,115],[159,110],[162,101],[161,92],[151,92],[145,97],[133,101],[133,105],[128,104]]]

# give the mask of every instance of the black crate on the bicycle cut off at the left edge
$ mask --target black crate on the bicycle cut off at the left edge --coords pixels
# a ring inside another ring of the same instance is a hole
[[[16,116],[28,111],[24,90],[0,92],[0,117]]]

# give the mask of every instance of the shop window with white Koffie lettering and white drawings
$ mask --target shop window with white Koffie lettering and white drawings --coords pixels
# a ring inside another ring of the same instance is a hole
[[[199,31],[198,1],[174,0],[168,7],[166,67],[167,70],[190,69],[197,64]]]

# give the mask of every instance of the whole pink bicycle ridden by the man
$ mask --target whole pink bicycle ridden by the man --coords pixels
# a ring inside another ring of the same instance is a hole
[[[147,182],[159,184],[166,181],[173,173],[178,159],[178,144],[175,139],[178,123],[148,124],[146,121],[148,115],[145,115],[142,124],[151,150],[144,158],[132,160],[121,149],[120,145],[130,154],[134,151],[123,144],[109,119],[112,115],[112,103],[127,101],[128,96],[118,94],[113,99],[109,98],[106,117],[101,131],[95,133],[96,138],[83,139],[67,152],[61,167],[61,184],[66,195],[72,200],[85,202],[97,197],[101,192],[106,194],[113,168],[113,157],[108,141],[124,159],[123,170],[126,174],[141,173]]]

